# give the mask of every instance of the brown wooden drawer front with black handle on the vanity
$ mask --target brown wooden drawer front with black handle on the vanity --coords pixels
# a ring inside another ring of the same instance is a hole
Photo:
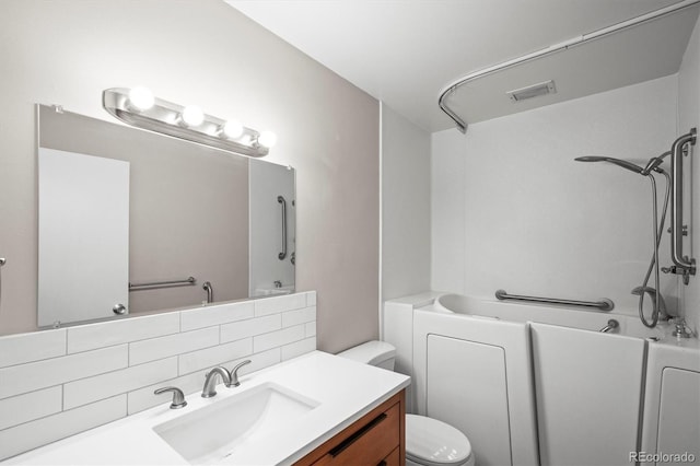
[[[361,426],[353,434],[340,442],[316,465],[377,465],[400,442],[399,405]]]

